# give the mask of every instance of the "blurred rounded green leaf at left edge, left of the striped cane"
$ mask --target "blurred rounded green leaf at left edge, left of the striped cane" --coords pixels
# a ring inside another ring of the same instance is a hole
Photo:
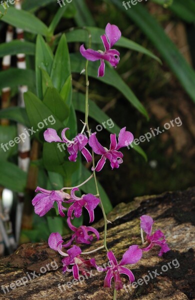
[[[14,138],[16,136],[17,136],[16,126],[0,125],[0,158],[1,159],[6,159],[7,157],[11,156],[14,152],[15,153],[17,152],[17,143],[14,142]]]

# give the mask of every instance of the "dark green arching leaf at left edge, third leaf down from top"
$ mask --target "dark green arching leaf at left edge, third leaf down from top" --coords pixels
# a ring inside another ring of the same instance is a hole
[[[27,85],[31,90],[35,89],[35,74],[29,69],[9,68],[0,71],[0,89],[9,86]]]

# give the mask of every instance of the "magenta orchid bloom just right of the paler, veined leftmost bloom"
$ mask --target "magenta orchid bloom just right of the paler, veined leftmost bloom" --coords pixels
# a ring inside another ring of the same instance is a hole
[[[66,203],[73,202],[68,208],[67,216],[73,218],[72,212],[74,212],[75,217],[80,217],[82,213],[82,207],[85,207],[89,213],[89,222],[92,222],[94,220],[94,209],[100,202],[99,198],[96,198],[90,193],[82,195],[80,198],[74,194],[75,190],[79,189],[77,187],[72,188],[70,199],[65,201]]]

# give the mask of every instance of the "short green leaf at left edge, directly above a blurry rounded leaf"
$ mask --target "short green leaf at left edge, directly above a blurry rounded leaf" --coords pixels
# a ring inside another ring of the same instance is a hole
[[[0,118],[7,118],[12,121],[16,121],[29,127],[29,120],[25,111],[25,108],[22,107],[9,107],[0,110]]]

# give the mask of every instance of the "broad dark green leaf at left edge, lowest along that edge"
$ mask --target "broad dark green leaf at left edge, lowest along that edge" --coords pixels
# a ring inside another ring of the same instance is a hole
[[[13,191],[23,192],[27,174],[14,163],[0,159],[0,185]]]

